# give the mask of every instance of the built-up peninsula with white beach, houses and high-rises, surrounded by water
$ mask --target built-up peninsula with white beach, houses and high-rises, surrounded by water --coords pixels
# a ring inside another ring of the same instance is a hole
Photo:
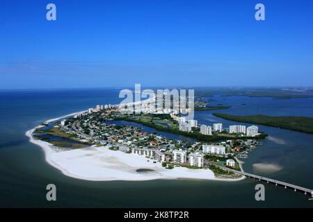
[[[119,105],[97,105],[83,112],[45,121],[29,130],[30,141],[43,148],[47,162],[65,175],[83,180],[201,179],[241,180],[236,156],[259,145],[266,135],[257,126],[198,125],[173,110],[125,114]],[[168,113],[169,112],[169,113]],[[195,142],[147,133],[141,123]],[[210,142],[207,144],[206,142]],[[230,169],[230,170],[227,170]]]

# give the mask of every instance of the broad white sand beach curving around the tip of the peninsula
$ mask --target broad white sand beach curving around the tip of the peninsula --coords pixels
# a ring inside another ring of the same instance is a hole
[[[74,114],[78,113],[76,112]],[[74,114],[49,119],[45,123],[70,117]],[[45,153],[45,160],[52,167],[59,169],[63,174],[72,178],[94,181],[143,181],[157,179],[238,181],[245,178],[216,178],[214,173],[209,169],[188,169],[186,167],[165,169],[161,166],[160,162],[154,163],[154,160],[141,155],[123,153],[122,151],[111,151],[106,146],[90,146],[88,148],[64,151],[48,142],[33,138],[33,131],[41,127],[43,126],[37,126],[26,132],[29,141],[42,148]]]

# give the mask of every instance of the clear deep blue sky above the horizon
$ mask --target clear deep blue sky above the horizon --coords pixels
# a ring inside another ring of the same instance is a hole
[[[310,0],[4,0],[0,24],[0,89],[313,85]]]

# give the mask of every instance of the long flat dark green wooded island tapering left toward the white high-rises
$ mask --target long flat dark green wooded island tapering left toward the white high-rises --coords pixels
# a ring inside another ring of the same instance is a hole
[[[302,133],[313,134],[312,117],[269,117],[265,115],[233,116],[230,114],[213,113],[214,116],[232,121],[255,123],[265,126],[295,130]]]

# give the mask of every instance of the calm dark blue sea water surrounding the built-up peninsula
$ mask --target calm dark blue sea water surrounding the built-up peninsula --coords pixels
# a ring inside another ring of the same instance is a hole
[[[24,134],[43,121],[97,104],[118,103],[118,89],[72,89],[0,92],[0,207],[313,207],[309,196],[265,184],[266,200],[255,200],[258,181],[216,182],[153,180],[92,182],[64,176],[45,162],[39,146]],[[214,96],[211,105],[231,105],[230,114],[313,117],[313,99],[271,99]],[[245,104],[245,105],[243,105]],[[199,123],[235,122],[196,112]],[[246,124],[248,126],[248,124]],[[313,135],[259,126],[270,135],[244,160],[250,173],[313,189]],[[270,164],[264,171],[253,164]],[[46,185],[57,187],[57,201],[48,202]]]

